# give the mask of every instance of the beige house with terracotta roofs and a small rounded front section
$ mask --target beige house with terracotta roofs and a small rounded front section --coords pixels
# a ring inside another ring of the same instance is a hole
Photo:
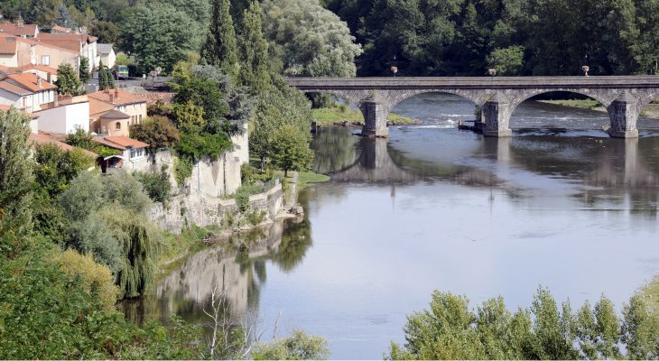
[[[119,89],[88,94],[89,127],[97,134],[128,136],[130,125],[146,119],[146,99]]]

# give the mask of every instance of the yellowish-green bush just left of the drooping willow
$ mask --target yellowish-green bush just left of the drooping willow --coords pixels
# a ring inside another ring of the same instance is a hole
[[[55,253],[55,263],[70,280],[80,279],[80,287],[87,293],[97,296],[103,310],[115,310],[117,290],[112,273],[101,264],[94,262],[90,255],[80,255],[69,249],[63,253]]]

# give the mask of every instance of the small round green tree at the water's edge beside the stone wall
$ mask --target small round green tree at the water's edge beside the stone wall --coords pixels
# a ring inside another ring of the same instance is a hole
[[[275,166],[288,171],[309,169],[313,160],[313,151],[309,148],[310,133],[305,133],[294,125],[283,125],[273,134],[271,157]]]

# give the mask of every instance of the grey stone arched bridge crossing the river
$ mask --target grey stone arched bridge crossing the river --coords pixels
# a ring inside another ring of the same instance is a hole
[[[482,109],[477,127],[485,136],[512,135],[508,124],[524,100],[543,93],[565,91],[592,97],[607,107],[608,134],[638,136],[636,121],[643,106],[659,97],[659,77],[492,77],[492,78],[288,78],[288,85],[305,93],[330,93],[359,107],[362,134],[385,137],[386,118],[404,99],[422,93],[450,93]]]

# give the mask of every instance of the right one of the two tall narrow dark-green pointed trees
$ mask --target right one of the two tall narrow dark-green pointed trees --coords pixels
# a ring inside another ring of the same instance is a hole
[[[268,42],[261,23],[261,9],[252,1],[245,10],[243,32],[240,36],[240,59],[243,66],[238,74],[240,84],[261,94],[270,86],[268,73]]]

